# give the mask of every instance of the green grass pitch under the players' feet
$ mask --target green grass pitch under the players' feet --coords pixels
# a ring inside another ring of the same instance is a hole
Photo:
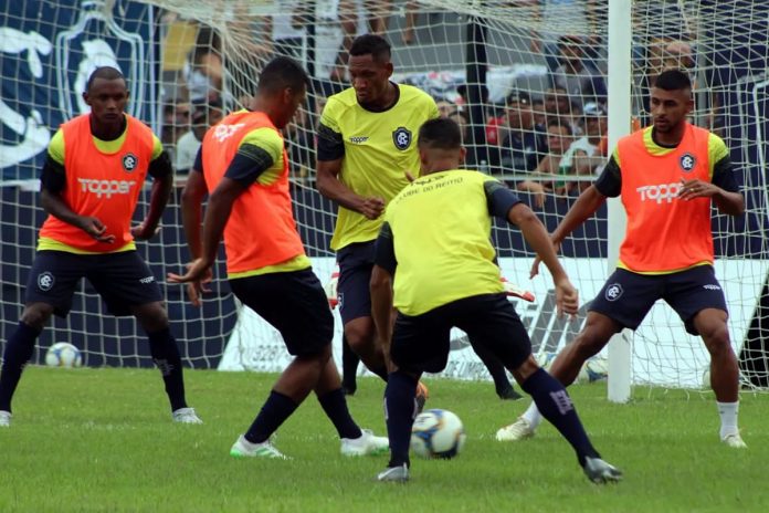
[[[291,461],[234,460],[274,375],[188,371],[190,404],[206,423],[170,422],[151,370],[25,371],[11,429],[0,430],[0,512],[766,512],[766,396],[744,394],[736,451],[718,442],[709,395],[641,389],[630,405],[604,386],[571,389],[597,448],[625,472],[589,483],[550,426],[533,440],[499,443],[498,427],[525,408],[488,383],[429,380],[429,406],[455,411],[467,443],[452,461],[414,460],[405,485],[377,483],[387,457],[344,459],[314,399],[281,428]],[[359,379],[350,409],[384,433],[382,384]]]

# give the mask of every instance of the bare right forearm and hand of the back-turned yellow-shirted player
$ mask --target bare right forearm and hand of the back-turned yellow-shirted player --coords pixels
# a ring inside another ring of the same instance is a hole
[[[569,276],[558,261],[552,242],[545,226],[531,209],[524,203],[516,203],[507,213],[507,220],[520,229],[538,258],[545,262],[556,285],[556,305],[559,315],[576,315],[579,310],[579,295],[569,281]]]

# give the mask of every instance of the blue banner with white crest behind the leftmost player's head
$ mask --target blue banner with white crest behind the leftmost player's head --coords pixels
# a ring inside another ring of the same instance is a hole
[[[154,8],[106,4],[17,0],[0,12],[0,179],[39,176],[59,125],[88,112],[82,93],[98,66],[119,69],[130,91],[128,113],[159,127]]]

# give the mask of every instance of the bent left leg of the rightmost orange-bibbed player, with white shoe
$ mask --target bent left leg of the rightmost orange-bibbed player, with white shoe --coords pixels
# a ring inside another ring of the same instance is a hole
[[[584,362],[600,352],[614,333],[623,327],[635,329],[641,324],[654,302],[662,297],[663,290],[664,281],[660,276],[636,274],[623,269],[612,273],[590,303],[584,327],[552,362],[550,375],[565,386],[571,385]],[[632,291],[632,294],[625,291]],[[541,420],[537,405],[530,404],[518,420],[497,431],[497,440],[529,438]]]

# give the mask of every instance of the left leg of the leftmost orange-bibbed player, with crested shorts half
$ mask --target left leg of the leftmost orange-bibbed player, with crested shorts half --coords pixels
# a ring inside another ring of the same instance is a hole
[[[11,401],[38,336],[53,313],[66,316],[72,295],[83,276],[87,256],[61,251],[39,251],[27,281],[24,311],[19,325],[6,341],[0,371],[0,426],[11,421]]]

